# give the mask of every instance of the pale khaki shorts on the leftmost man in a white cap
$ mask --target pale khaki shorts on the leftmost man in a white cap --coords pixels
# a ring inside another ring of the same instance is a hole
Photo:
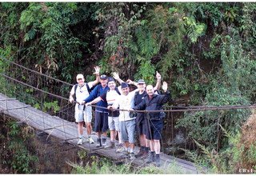
[[[91,106],[86,106],[85,108],[83,107],[84,107],[83,105],[79,105],[78,103],[75,105],[75,108],[74,108],[75,122],[91,122],[91,119],[92,119]]]

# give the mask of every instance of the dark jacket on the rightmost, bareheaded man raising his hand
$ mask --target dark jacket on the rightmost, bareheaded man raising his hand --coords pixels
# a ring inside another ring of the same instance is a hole
[[[138,106],[134,107],[134,110],[162,110],[162,106],[168,102],[169,99],[170,92],[168,90],[163,95],[154,94],[151,99],[147,95],[146,98],[138,104]],[[147,118],[150,118],[151,120],[161,119],[160,112],[149,112],[149,116]]]

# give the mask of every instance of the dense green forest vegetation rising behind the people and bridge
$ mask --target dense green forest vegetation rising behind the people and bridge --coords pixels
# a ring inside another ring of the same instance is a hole
[[[256,100],[255,13],[248,2],[2,2],[0,55],[70,83],[80,72],[93,79],[95,65],[148,83],[158,70],[174,104],[249,105]],[[178,126],[219,151],[229,147],[224,130],[237,134],[249,113],[189,113]]]

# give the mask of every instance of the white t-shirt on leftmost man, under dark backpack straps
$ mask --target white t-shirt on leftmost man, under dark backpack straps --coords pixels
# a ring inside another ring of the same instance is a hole
[[[72,87],[72,90],[70,91],[70,94],[74,94],[74,86]],[[93,87],[93,82],[88,82],[88,86],[89,86],[89,88],[92,88]],[[77,102],[79,102],[79,101],[81,102],[82,100],[89,97],[89,95],[90,94],[87,90],[86,82],[84,83],[83,86],[78,85],[78,88],[77,88],[76,93],[75,93],[75,97],[76,97]]]

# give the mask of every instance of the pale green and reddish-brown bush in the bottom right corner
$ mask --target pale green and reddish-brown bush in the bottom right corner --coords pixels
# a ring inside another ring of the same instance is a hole
[[[186,154],[198,165],[209,167],[213,173],[253,174],[256,169],[256,114],[252,114],[243,124],[242,131],[236,134],[221,128],[228,138],[226,149],[217,152],[196,142],[202,153],[186,150]]]

